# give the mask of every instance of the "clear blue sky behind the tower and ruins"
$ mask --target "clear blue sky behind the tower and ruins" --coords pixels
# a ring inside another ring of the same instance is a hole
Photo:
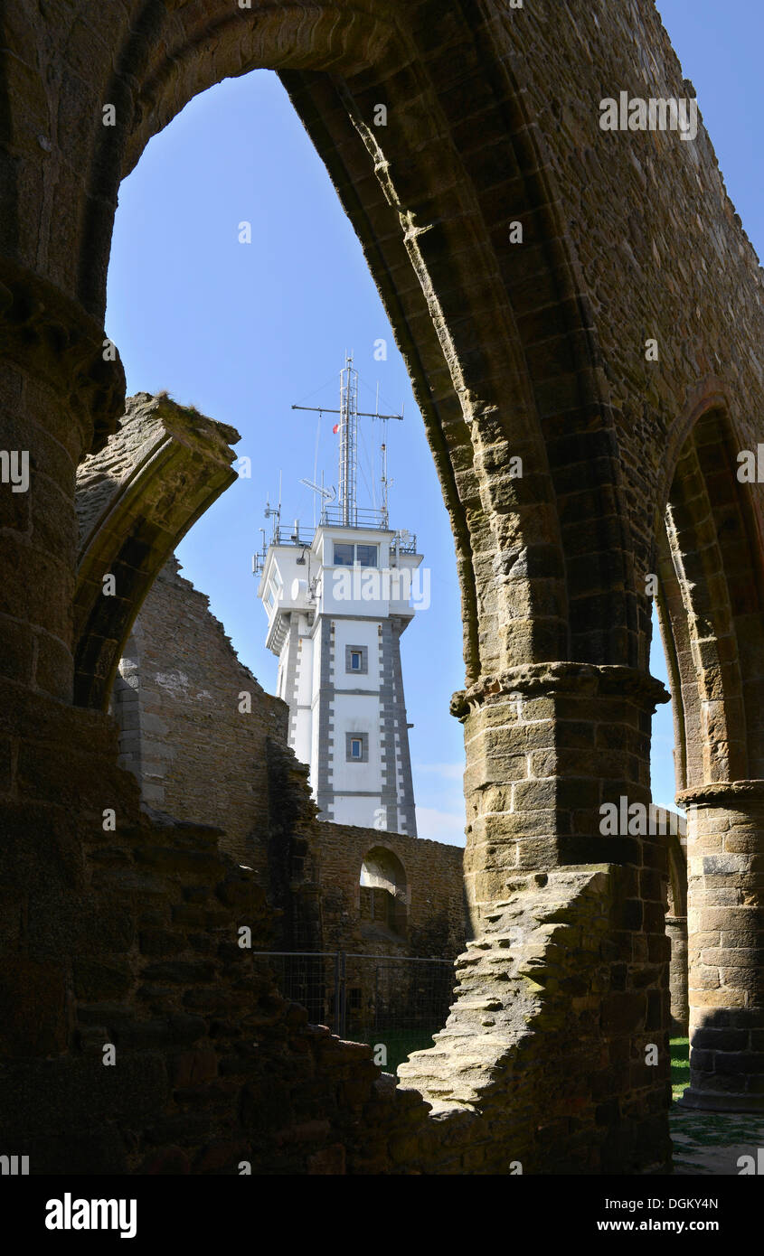
[[[697,89],[728,190],[754,246],[764,250],[760,203],[760,0],[660,0],[658,9]],[[239,224],[253,242],[240,244]],[[449,698],[464,683],[461,623],[449,520],[403,363],[324,167],[274,74],[229,79],[194,99],[148,144],[123,182],[109,268],[107,330],[128,392],[162,388],[241,432],[240,479],[178,549],[183,574],[210,595],[241,659],[266,690],[276,661],[250,574],[263,506],[283,472],[284,519],[309,525],[318,472],[336,482],[332,420],[293,402],[337,404],[337,376],[354,350],[361,399],[406,407],[391,423],[391,519],[408,528],[432,571],[432,604],[403,637],[411,752],[421,836],[462,843],[461,727]],[[388,343],[387,362],[373,358]],[[372,433],[367,428],[367,445]],[[362,481],[362,494],[366,490]],[[665,676],[660,647],[653,672]],[[671,718],[653,725],[653,796],[672,805]]]

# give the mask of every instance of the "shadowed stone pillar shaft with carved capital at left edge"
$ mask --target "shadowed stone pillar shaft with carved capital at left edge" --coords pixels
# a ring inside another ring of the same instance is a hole
[[[122,408],[124,376],[111,353],[104,360],[96,320],[8,259],[0,313],[0,450],[28,470],[21,491],[0,484],[0,674],[70,701],[74,472]]]

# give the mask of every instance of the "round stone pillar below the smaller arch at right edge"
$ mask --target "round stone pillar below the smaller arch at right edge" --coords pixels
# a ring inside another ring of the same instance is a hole
[[[680,1103],[764,1110],[764,781],[687,790],[690,1086]]]

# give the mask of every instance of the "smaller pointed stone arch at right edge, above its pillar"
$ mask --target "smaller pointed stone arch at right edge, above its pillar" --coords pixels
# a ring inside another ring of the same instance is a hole
[[[684,791],[764,775],[764,546],[758,502],[736,479],[741,447],[719,399],[705,406],[666,494],[658,613]]]

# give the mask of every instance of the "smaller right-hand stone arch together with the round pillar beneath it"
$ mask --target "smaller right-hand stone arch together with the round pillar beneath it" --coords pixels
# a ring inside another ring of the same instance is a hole
[[[764,1069],[754,1050],[764,1027],[761,511],[758,486],[738,479],[746,442],[724,389],[711,381],[700,392],[674,433],[658,541],[677,801],[687,806],[691,1049],[681,1102],[758,1110],[764,1107]],[[667,929],[679,953],[682,884],[671,854]],[[672,1012],[676,986],[672,967]],[[679,1027],[681,1016],[674,1021]]]

